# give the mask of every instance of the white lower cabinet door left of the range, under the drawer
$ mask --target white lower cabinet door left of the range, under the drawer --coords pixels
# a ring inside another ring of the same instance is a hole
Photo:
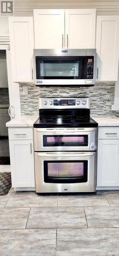
[[[10,140],[10,162],[13,187],[34,187],[33,140]]]

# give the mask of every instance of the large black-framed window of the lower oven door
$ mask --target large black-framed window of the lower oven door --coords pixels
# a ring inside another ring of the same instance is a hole
[[[44,161],[44,182],[87,182],[87,160]]]

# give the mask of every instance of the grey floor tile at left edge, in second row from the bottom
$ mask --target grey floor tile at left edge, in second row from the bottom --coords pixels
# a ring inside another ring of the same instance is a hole
[[[0,208],[0,229],[25,228],[29,209],[30,208]]]

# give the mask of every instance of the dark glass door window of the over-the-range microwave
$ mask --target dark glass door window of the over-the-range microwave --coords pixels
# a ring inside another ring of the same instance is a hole
[[[84,79],[84,57],[36,57],[37,79]]]

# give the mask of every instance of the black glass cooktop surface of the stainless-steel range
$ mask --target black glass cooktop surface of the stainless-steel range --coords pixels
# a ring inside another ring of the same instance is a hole
[[[91,117],[42,117],[34,123],[34,127],[98,127],[98,123]]]

